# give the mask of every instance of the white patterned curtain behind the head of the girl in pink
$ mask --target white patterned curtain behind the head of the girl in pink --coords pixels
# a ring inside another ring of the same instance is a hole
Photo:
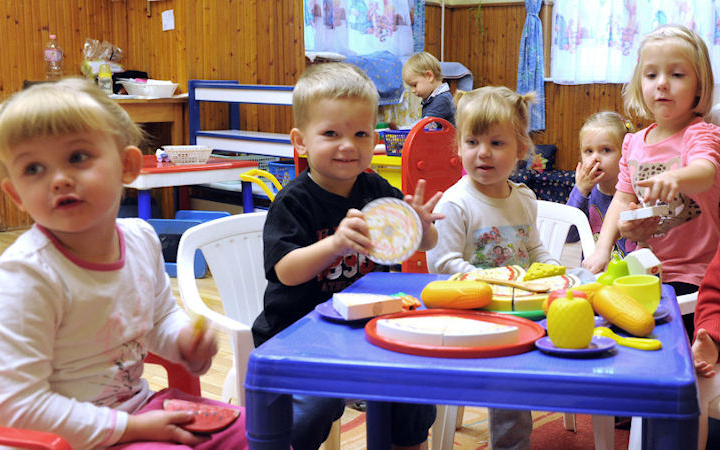
[[[720,76],[720,1],[555,0],[551,74],[559,84],[627,83],[643,36],[681,24],[702,36]]]

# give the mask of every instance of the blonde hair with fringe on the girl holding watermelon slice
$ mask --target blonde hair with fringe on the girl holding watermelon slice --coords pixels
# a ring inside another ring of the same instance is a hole
[[[38,137],[91,131],[108,133],[120,150],[140,145],[144,137],[125,110],[94,83],[66,78],[37,84],[0,106],[0,160]]]

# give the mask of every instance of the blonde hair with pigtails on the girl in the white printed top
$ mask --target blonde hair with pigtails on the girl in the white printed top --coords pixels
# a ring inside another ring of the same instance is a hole
[[[479,135],[498,123],[511,123],[518,143],[532,154],[534,148],[528,129],[530,112],[528,104],[535,100],[535,93],[518,94],[505,86],[484,86],[469,92],[455,92],[455,122],[457,140],[464,134]]]

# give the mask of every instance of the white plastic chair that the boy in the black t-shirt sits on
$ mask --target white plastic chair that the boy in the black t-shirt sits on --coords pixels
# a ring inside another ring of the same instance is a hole
[[[233,365],[221,399],[245,404],[245,373],[255,348],[251,327],[263,309],[267,285],[262,233],[266,211],[212,220],[185,231],[177,254],[177,280],[185,308],[205,316],[230,337]],[[211,310],[200,298],[195,280],[195,251],[202,250],[220,294],[225,314]],[[340,448],[340,421],[333,424],[326,449]]]

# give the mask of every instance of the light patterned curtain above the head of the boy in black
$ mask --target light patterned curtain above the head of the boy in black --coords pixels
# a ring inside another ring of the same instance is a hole
[[[305,50],[397,56],[422,51],[424,0],[304,0]]]

